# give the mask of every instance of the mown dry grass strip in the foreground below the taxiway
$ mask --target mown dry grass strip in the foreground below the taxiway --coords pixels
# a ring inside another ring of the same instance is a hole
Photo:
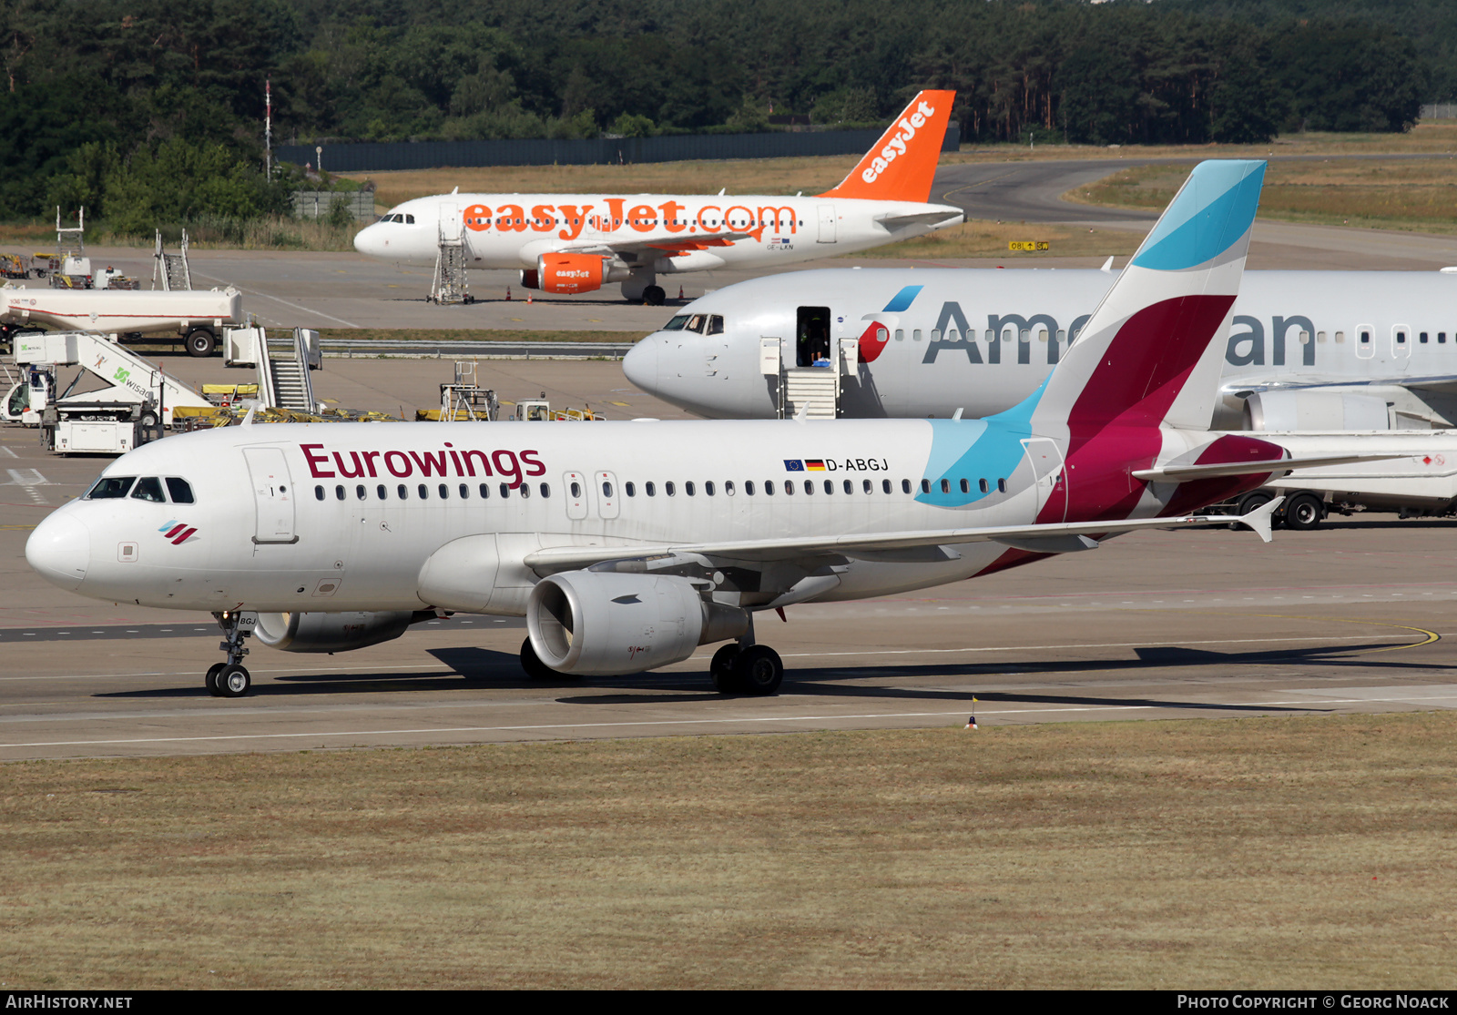
[[[4,766],[42,987],[1450,987],[1457,714]]]

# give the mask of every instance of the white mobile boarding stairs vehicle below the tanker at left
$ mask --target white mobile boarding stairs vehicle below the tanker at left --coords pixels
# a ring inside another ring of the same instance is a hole
[[[130,451],[162,435],[173,409],[211,409],[211,402],[124,345],[90,332],[20,332],[15,361],[25,380],[4,396],[3,415],[41,427],[52,451]],[[74,392],[82,374],[57,395],[55,368],[80,366],[106,386]]]

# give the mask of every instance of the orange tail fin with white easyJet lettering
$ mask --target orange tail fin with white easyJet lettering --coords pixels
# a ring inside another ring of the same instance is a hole
[[[820,197],[925,204],[954,98],[956,92],[922,92],[911,99],[849,176]]]

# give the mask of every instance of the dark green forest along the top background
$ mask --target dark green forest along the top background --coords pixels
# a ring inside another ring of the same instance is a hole
[[[1447,7],[4,0],[0,216],[281,210],[258,172],[270,79],[278,143],[753,131],[771,111],[868,125],[921,87],[956,89],[970,141],[1400,131],[1457,84]]]

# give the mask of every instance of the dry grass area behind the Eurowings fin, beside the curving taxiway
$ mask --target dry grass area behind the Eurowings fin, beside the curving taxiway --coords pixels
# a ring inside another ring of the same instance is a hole
[[[1163,208],[1189,166],[1135,166],[1078,189],[1088,204]],[[1272,162],[1260,218],[1320,226],[1365,226],[1457,233],[1457,160]]]

